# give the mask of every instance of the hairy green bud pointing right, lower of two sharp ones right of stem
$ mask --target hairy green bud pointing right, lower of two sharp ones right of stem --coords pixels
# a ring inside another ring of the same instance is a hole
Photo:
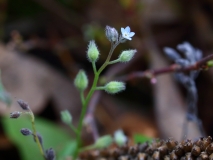
[[[125,84],[123,82],[112,81],[105,85],[104,90],[110,94],[115,94],[125,90]]]

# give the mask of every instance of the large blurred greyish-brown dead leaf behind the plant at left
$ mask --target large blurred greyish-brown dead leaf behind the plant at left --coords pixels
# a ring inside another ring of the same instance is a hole
[[[8,50],[0,45],[0,69],[6,91],[13,103],[9,111],[20,110],[16,101],[28,102],[34,113],[41,112],[51,99],[60,110],[70,109],[74,117],[80,109],[80,98],[71,80],[29,55]],[[0,113],[8,109],[1,104]]]

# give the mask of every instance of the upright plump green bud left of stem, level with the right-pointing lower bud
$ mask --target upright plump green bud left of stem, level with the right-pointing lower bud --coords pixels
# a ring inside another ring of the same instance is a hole
[[[80,70],[78,72],[77,76],[75,77],[74,84],[75,84],[75,87],[77,89],[79,89],[80,91],[83,91],[87,88],[88,79],[87,79],[87,76],[86,76],[86,74],[83,70]]]

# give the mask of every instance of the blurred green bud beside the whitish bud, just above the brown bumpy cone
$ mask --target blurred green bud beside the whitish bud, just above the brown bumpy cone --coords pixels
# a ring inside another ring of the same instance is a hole
[[[103,149],[109,147],[113,142],[113,138],[110,135],[105,135],[96,140],[94,148]]]

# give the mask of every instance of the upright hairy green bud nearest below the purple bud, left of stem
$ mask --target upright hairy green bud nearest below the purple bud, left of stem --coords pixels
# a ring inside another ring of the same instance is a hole
[[[98,47],[95,44],[95,41],[90,41],[87,51],[87,56],[90,62],[96,62],[99,57]]]

